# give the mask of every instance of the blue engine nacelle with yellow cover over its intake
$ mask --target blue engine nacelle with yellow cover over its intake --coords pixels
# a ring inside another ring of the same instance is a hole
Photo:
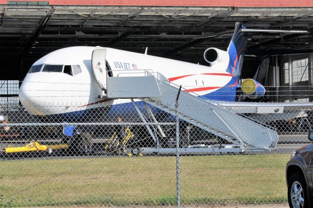
[[[262,97],[266,92],[264,86],[254,79],[246,79],[245,81],[243,81],[243,83],[241,84],[241,90],[250,99],[258,99]]]

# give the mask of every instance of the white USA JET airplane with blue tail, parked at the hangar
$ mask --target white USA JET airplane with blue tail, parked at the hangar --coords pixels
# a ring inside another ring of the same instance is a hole
[[[129,108],[130,99],[99,98],[105,89],[101,84],[99,85],[92,64],[95,64],[94,67],[100,72],[107,70],[109,76],[118,76],[125,72],[138,73],[139,70],[159,72],[170,82],[182,85],[186,92],[196,92],[202,99],[226,101],[223,102],[225,106],[227,102],[232,105],[234,101],[238,101],[242,92],[250,98],[259,98],[265,94],[262,84],[253,79],[246,79],[242,84],[239,83],[246,46],[244,32],[253,32],[253,30],[246,29],[242,23],[236,23],[226,51],[213,47],[206,49],[204,59],[210,66],[108,47],[62,48],[45,55],[32,65],[20,87],[19,98],[31,115],[40,116],[80,116],[99,106],[112,106],[110,111],[115,113],[123,111],[123,106]],[[106,63],[92,63],[92,53],[99,48],[106,49]],[[269,105],[273,106],[273,103]]]

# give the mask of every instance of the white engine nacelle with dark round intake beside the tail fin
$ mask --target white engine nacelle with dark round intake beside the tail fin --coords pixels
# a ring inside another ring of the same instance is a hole
[[[215,47],[209,47],[204,51],[204,60],[212,65],[229,62],[229,55],[226,51]]]

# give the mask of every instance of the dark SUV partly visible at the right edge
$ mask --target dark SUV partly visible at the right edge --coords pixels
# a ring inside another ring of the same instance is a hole
[[[308,139],[313,141],[313,131]],[[286,165],[288,203],[291,208],[313,208],[313,144],[294,151]]]

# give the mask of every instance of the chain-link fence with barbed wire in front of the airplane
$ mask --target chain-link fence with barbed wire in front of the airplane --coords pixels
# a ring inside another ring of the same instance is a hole
[[[184,99],[1,112],[0,207],[287,203],[285,165],[310,143],[312,103]]]

